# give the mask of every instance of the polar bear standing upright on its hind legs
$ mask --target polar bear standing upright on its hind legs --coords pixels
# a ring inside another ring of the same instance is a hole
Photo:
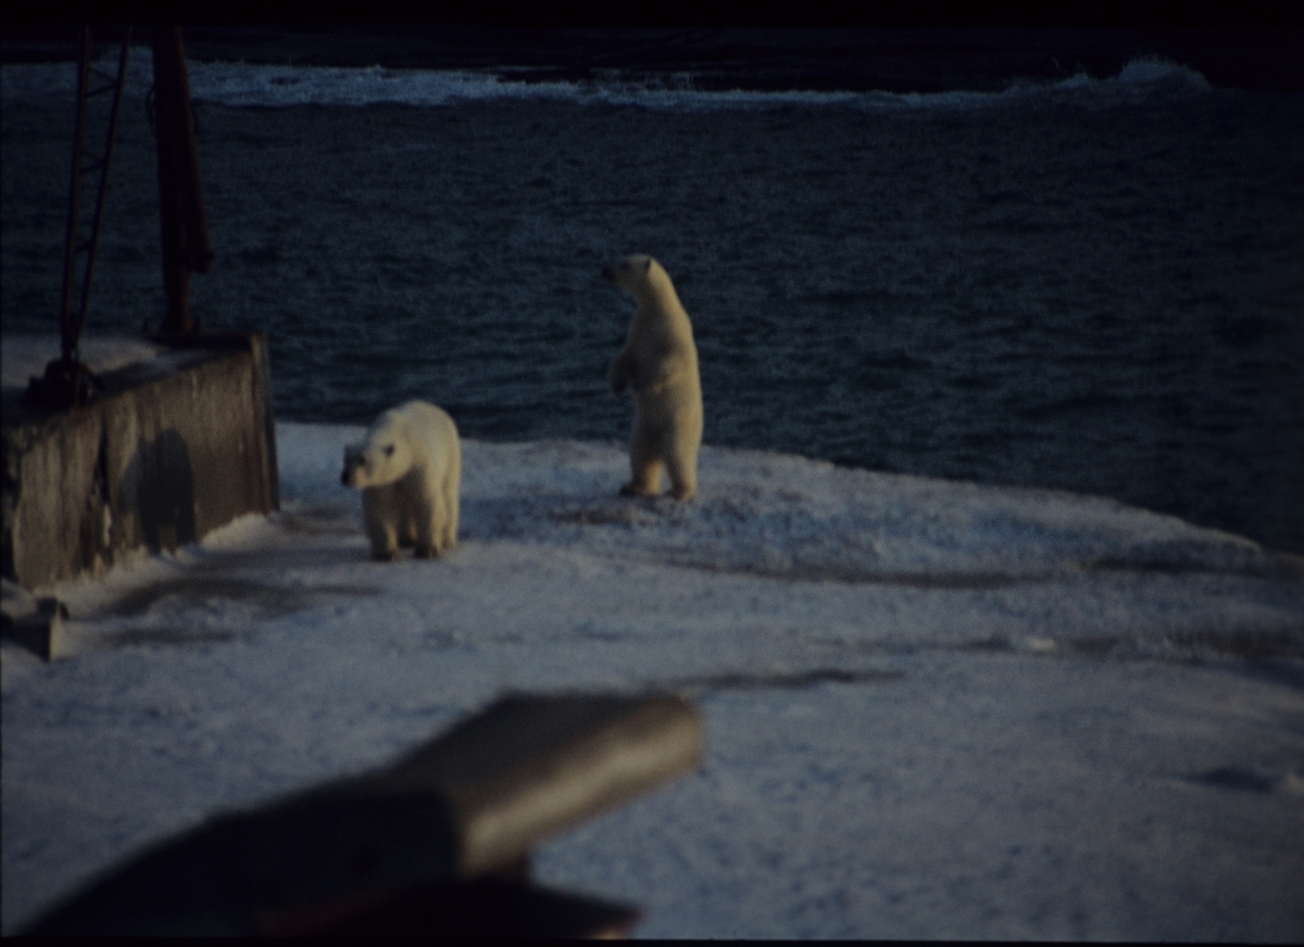
[[[632,478],[621,492],[660,492],[665,466],[670,495],[691,500],[698,492],[702,380],[689,314],[670,276],[651,257],[626,257],[602,270],[602,277],[638,304],[629,340],[608,371],[613,393],[634,389]]]

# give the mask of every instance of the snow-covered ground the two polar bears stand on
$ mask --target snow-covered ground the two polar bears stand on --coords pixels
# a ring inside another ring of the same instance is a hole
[[[12,933],[136,847],[370,767],[505,690],[669,688],[703,770],[558,838],[645,937],[1301,940],[1304,580],[1110,500],[705,448],[466,442],[462,544],[368,560],[360,427],[283,511],[55,591],[3,651]]]

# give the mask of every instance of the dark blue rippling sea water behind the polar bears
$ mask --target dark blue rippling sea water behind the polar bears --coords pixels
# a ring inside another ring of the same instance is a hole
[[[53,70],[4,66],[5,333],[56,331]],[[605,369],[632,305],[599,271],[649,253],[694,322],[708,444],[1103,494],[1304,551],[1299,94],[1159,63],[938,95],[192,82],[216,253],[193,310],[270,333],[280,418],[424,397],[471,438],[623,439]],[[128,95],[89,332],[163,309]]]

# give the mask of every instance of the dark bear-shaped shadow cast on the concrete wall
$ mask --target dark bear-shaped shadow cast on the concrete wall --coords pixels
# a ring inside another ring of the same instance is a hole
[[[123,473],[123,504],[140,517],[150,552],[176,550],[198,539],[190,448],[176,430],[136,445]]]

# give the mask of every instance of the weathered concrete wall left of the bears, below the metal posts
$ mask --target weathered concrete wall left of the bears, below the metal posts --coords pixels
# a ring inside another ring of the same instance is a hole
[[[0,556],[27,589],[280,505],[265,333],[206,333],[100,379],[82,408],[4,405]]]

